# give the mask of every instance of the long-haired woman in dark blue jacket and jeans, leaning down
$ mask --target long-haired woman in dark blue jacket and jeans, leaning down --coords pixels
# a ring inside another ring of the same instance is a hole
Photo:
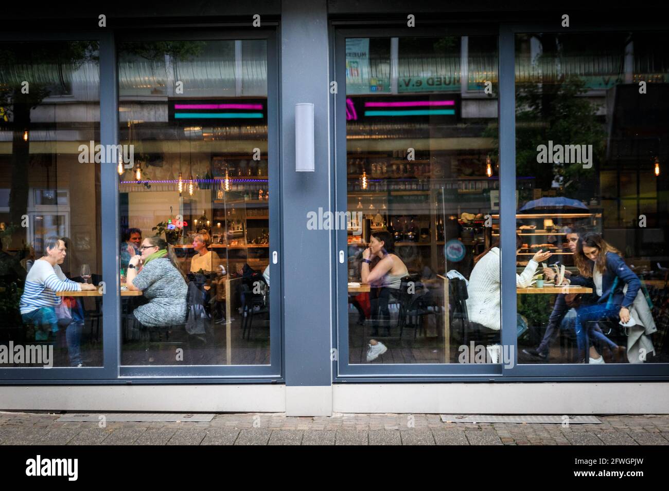
[[[623,323],[630,321],[630,306],[636,299],[641,281],[625,264],[619,251],[595,232],[588,232],[579,238],[574,262],[581,277],[575,277],[572,283],[593,287],[597,294],[597,302],[594,305],[577,309],[576,335],[579,350],[587,349],[585,346],[587,334],[607,343],[618,359],[622,359],[624,347],[613,343],[595,327],[596,324],[592,321],[609,317],[619,317]],[[627,293],[623,293],[625,285],[628,287]],[[601,357],[599,359],[591,363],[603,363],[603,359]]]

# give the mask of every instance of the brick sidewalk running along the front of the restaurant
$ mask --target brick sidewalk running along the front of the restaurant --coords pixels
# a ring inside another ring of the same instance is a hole
[[[104,414],[104,413],[100,413]],[[669,415],[597,416],[602,424],[442,423],[438,414],[217,414],[211,422],[56,422],[0,412],[3,445],[668,445]],[[413,420],[412,420],[413,418]],[[413,428],[411,424],[413,423]]]

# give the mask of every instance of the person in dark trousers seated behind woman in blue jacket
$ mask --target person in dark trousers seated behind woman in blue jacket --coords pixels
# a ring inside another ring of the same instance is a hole
[[[576,243],[578,242],[579,236],[581,236],[582,233],[576,228],[567,228],[565,232],[565,238],[569,246],[569,251],[573,254],[576,252]],[[555,281],[555,277],[557,276],[555,269],[544,268],[543,273],[546,276],[546,279]],[[570,271],[565,271],[565,278],[567,279],[575,277],[575,275],[576,273],[572,275]],[[591,295],[587,294],[583,294],[580,297],[580,303],[582,305],[594,303],[595,300],[596,299],[591,299]],[[548,361],[551,343],[553,343],[553,341],[555,341],[557,338],[559,329],[569,329],[569,327],[572,325],[571,316],[569,321],[563,323],[563,319],[565,319],[565,315],[570,311],[570,309],[571,307],[569,307],[565,301],[565,294],[560,293],[557,295],[557,298],[555,299],[555,305],[553,305],[553,311],[549,317],[548,326],[546,327],[546,332],[543,336],[543,339],[541,339],[541,343],[539,343],[539,346],[536,348],[523,349],[522,352],[533,359],[537,359],[539,361]],[[597,353],[595,347],[593,346],[590,347],[590,357],[592,359],[599,358],[599,353]]]

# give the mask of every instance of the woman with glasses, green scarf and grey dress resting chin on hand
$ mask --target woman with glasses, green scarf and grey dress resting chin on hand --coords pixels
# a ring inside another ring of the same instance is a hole
[[[148,302],[134,309],[133,315],[142,327],[169,327],[185,323],[188,285],[177,265],[174,252],[164,238],[142,240],[141,255],[128,262],[126,286],[130,291],[141,290]],[[137,266],[142,263],[142,271]]]

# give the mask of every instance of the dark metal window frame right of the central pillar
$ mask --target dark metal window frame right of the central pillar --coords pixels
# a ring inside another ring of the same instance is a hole
[[[512,166],[500,166],[500,229],[502,247],[502,344],[514,347],[514,366],[501,364],[388,364],[365,365],[349,363],[348,298],[345,292],[348,281],[348,265],[335,263],[332,280],[333,305],[336,305],[336,331],[332,345],[337,347],[338,359],[333,361],[333,381],[346,382],[463,382],[463,381],[664,381],[669,380],[666,363],[644,363],[640,365],[580,365],[580,364],[522,364],[518,365],[518,343],[516,325],[516,258],[515,258],[515,35],[524,32],[561,31],[559,23],[498,23],[496,25],[429,25],[426,27],[397,27],[391,29],[369,23],[364,27],[354,21],[330,22],[332,56],[330,67],[337,81],[340,94],[332,94],[332,159],[335,193],[332,206],[336,210],[347,208],[347,144],[346,144],[346,77],[345,39],[347,37],[436,37],[448,35],[498,35],[498,126],[500,162],[514,162]],[[648,27],[608,25],[595,23],[579,24],[569,32],[659,30]],[[506,210],[506,211],[505,211]],[[347,250],[347,232],[332,232],[337,251]]]

